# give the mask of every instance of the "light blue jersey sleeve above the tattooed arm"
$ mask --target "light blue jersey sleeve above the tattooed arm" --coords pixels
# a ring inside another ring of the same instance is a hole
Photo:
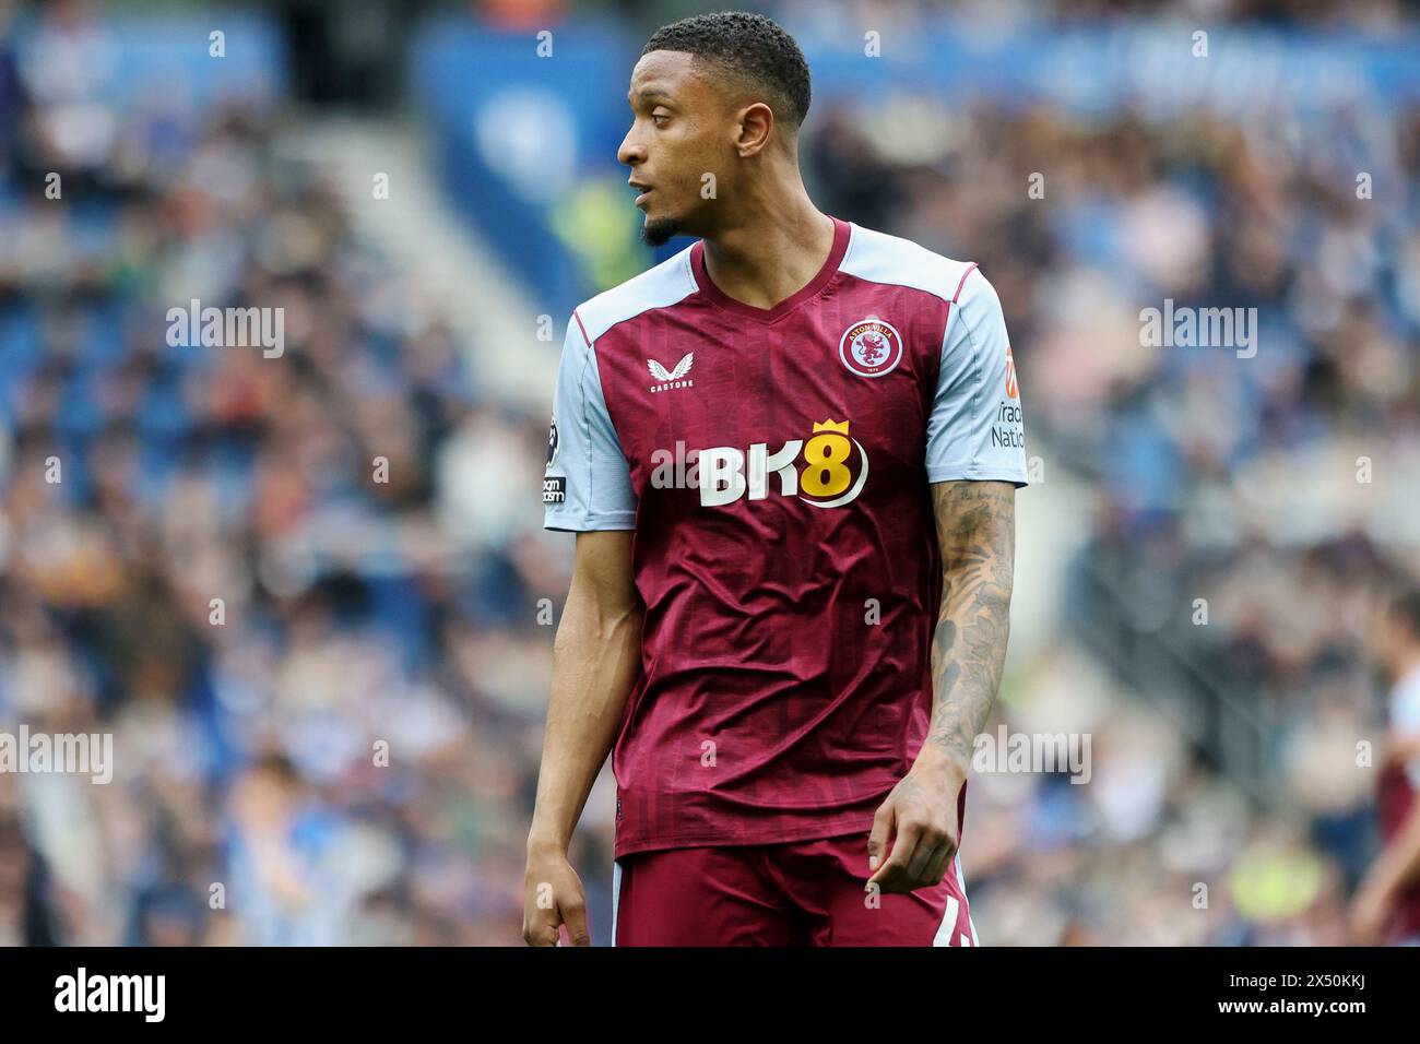
[[[973,268],[947,315],[927,418],[927,482],[1025,486],[1025,425],[995,288]]]

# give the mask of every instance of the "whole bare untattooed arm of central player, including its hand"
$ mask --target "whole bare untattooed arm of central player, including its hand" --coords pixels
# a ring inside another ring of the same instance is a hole
[[[640,663],[642,605],[630,545],[629,530],[577,535],[572,585],[552,648],[552,696],[528,832],[523,937],[531,946],[555,946],[564,923],[574,946],[591,943],[586,898],[567,854]]]

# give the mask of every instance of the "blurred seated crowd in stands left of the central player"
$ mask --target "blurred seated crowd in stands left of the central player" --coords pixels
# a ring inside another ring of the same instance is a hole
[[[515,940],[545,418],[278,116],[115,107],[104,43],[0,44],[0,729],[115,763],[0,774],[0,942]],[[283,308],[284,352],[173,347],[195,298]]]

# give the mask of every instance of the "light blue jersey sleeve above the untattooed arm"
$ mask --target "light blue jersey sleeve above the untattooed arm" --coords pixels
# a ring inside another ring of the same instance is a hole
[[[552,395],[542,473],[542,526],[550,530],[636,528],[636,494],[606,410],[596,352],[572,312]]]

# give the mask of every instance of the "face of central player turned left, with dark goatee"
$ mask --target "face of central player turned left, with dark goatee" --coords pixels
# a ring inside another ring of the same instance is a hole
[[[660,246],[672,236],[711,230],[714,197],[706,197],[704,175],[716,176],[714,190],[734,158],[734,112],[694,61],[683,51],[642,55],[630,74],[633,121],[616,158],[639,187],[636,207],[646,214],[642,239]]]

